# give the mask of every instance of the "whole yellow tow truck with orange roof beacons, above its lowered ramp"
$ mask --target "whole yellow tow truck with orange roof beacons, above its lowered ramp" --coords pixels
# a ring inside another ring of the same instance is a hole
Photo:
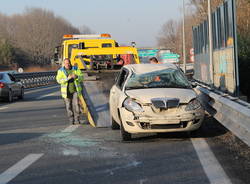
[[[81,56],[81,53],[84,55]],[[124,56],[129,58],[129,62],[123,61]],[[65,58],[70,58],[71,64],[82,70],[114,69],[124,64],[139,63],[134,47],[119,47],[118,43],[111,39],[111,35],[106,33],[64,35],[62,44],[55,48],[53,62],[61,64]]]

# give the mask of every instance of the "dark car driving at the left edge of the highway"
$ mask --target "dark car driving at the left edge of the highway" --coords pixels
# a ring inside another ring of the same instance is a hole
[[[8,72],[0,72],[0,98],[12,102],[14,97],[23,99],[24,86]]]

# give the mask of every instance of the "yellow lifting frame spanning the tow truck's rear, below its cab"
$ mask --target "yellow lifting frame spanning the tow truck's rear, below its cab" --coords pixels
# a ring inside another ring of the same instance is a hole
[[[116,55],[116,58],[109,58],[110,55]],[[99,59],[99,57],[102,59]],[[123,60],[123,56],[129,60]],[[137,49],[134,47],[115,47],[115,48],[89,48],[72,49],[71,64],[80,69],[120,69],[126,64],[139,64]]]

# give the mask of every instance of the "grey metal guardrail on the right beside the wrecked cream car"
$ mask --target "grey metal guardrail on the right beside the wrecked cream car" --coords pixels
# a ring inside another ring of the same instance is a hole
[[[250,104],[198,84],[206,111],[250,146]]]

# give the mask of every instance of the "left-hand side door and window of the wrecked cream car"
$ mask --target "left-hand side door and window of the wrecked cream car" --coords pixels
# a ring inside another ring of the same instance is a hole
[[[110,90],[110,112],[112,117],[116,122],[120,122],[118,114],[118,105],[121,95],[124,93],[122,91],[123,85],[128,77],[129,71],[125,68],[120,72],[115,85]]]

